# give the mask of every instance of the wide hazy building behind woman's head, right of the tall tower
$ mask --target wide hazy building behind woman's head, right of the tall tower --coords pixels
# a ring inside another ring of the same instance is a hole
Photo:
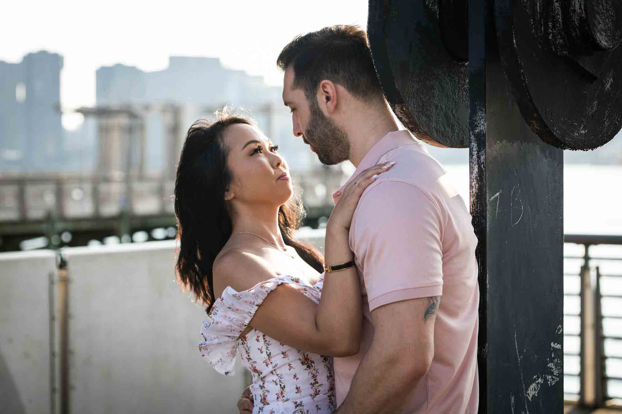
[[[281,87],[266,85],[261,76],[227,69],[218,58],[171,56],[169,67],[151,72],[121,64],[101,67],[96,71],[96,89],[98,108],[131,107],[142,111],[144,137],[128,139],[144,142],[139,159],[144,160],[140,170],[147,175],[174,175],[185,131],[192,122],[210,117],[226,104],[248,109],[262,131],[280,141],[281,152],[294,170],[309,170],[319,165],[302,140],[291,134]],[[167,119],[172,106],[179,109],[174,121]],[[114,121],[106,117],[101,122],[112,126]],[[98,172],[118,173],[106,170],[105,165],[111,165],[108,161],[111,157],[129,159],[131,156],[123,152],[129,146],[118,145],[118,137],[106,135],[106,131],[113,129],[100,126],[96,130],[100,142]]]

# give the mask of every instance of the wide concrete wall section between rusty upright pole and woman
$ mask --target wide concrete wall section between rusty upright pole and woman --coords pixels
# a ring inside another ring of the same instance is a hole
[[[205,311],[174,277],[174,242],[62,251],[69,283],[73,413],[238,413],[225,377],[198,352]]]

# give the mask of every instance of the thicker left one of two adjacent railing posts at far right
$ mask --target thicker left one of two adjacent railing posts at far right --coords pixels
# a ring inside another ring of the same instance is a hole
[[[594,295],[590,274],[590,245],[585,244],[585,255],[581,267],[581,370],[579,405],[593,407],[596,403],[595,384],[595,329]]]

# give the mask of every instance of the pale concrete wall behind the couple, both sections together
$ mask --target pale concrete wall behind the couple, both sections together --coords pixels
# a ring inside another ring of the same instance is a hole
[[[323,251],[323,231],[299,237]],[[62,250],[70,412],[238,413],[248,376],[239,362],[235,375],[220,375],[200,356],[206,315],[175,282],[174,249],[163,241]],[[50,331],[57,282],[52,251],[0,254],[0,413],[60,412],[58,315]]]

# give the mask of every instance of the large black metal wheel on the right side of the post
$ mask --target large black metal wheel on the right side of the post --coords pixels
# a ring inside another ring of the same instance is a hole
[[[522,116],[554,147],[588,150],[622,127],[622,2],[495,0],[499,53]]]

